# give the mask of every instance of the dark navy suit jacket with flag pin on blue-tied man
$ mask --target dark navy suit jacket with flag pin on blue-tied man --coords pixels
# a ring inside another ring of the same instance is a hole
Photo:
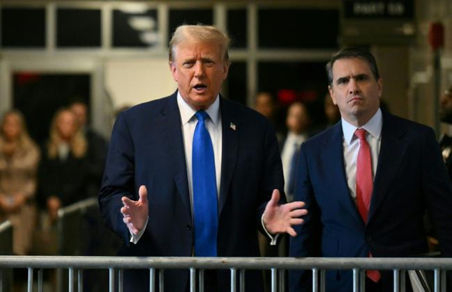
[[[220,97],[220,113],[223,154],[218,257],[258,257],[261,215],[272,190],[284,188],[277,140],[270,122],[250,108]],[[121,197],[137,200],[140,185],[147,188],[149,221],[134,245],[122,222]],[[193,219],[177,93],[120,114],[111,137],[99,206],[106,224],[124,238],[126,245],[120,255],[191,257]],[[140,287],[130,281],[126,286],[130,291],[147,289],[147,274],[129,277]],[[227,291],[229,271],[218,274],[219,286]],[[261,272],[247,274],[250,291],[261,291]],[[185,291],[187,284],[188,271],[166,270],[166,290]]]

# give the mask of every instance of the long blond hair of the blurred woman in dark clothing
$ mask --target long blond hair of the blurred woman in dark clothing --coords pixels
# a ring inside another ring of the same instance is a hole
[[[79,127],[79,122],[77,122],[75,114],[70,111],[68,108],[61,108],[58,110],[54,118],[52,119],[50,126],[50,135],[49,135],[49,144],[47,145],[47,155],[54,159],[58,155],[58,146],[63,143],[63,138],[60,137],[60,133],[58,133],[58,120],[60,119],[60,115],[63,113],[70,113],[74,117],[74,122],[77,124],[77,129],[74,136],[69,141],[70,149],[72,154],[76,158],[81,158],[85,156],[86,150],[88,148],[88,143],[86,142],[86,138],[81,133],[81,129]]]

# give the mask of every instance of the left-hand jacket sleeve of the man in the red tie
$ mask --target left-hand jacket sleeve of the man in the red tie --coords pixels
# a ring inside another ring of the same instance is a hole
[[[305,222],[294,227],[297,236],[290,239],[289,257],[319,257],[321,223],[312,182],[309,178],[309,168],[305,144],[301,145],[300,156],[296,168],[296,187],[294,201],[305,202],[309,213],[303,217]],[[289,272],[289,291],[312,291],[311,273],[303,270]]]

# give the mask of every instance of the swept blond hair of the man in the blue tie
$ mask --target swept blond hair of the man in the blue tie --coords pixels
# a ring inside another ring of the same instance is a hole
[[[178,26],[172,34],[170,40],[169,58],[170,62],[174,62],[176,56],[177,45],[186,40],[195,40],[198,42],[211,42],[220,45],[223,53],[223,62],[229,62],[229,36],[223,33],[215,26],[208,26],[203,24],[196,25],[181,25]]]

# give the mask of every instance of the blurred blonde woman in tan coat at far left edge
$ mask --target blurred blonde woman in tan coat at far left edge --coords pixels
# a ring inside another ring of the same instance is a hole
[[[0,122],[0,221],[13,224],[13,252],[29,252],[35,227],[36,169],[40,153],[19,111]]]

